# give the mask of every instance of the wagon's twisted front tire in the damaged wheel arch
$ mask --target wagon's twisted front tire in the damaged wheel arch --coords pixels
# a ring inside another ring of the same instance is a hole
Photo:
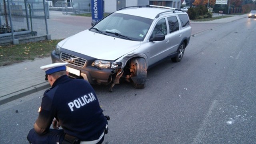
[[[132,59],[130,70],[134,88],[144,88],[147,78],[146,60],[144,58]]]

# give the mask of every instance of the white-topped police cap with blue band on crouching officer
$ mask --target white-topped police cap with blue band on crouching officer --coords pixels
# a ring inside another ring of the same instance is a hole
[[[48,64],[45,66],[41,66],[40,68],[45,71],[45,74],[53,74],[55,72],[60,72],[62,70],[66,70],[67,62],[57,62],[53,64]]]

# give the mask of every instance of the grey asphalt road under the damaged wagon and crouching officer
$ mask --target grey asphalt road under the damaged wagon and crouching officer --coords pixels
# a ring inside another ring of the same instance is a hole
[[[181,62],[148,70],[144,89],[94,86],[110,116],[104,144],[256,144],[255,32],[242,18],[194,34]],[[43,92],[0,106],[1,144],[27,143]]]

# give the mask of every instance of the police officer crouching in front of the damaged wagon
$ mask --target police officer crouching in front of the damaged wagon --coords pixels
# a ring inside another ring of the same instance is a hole
[[[86,80],[67,76],[66,64],[40,67],[52,87],[44,92],[27,139],[33,144],[101,144],[107,120],[98,98]]]

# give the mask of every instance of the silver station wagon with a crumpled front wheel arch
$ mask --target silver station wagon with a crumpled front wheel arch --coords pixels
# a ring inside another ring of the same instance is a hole
[[[191,35],[188,14],[163,6],[121,8],[52,51],[52,62],[68,62],[72,78],[110,85],[120,78],[144,88],[147,70],[170,58],[180,62]]]

